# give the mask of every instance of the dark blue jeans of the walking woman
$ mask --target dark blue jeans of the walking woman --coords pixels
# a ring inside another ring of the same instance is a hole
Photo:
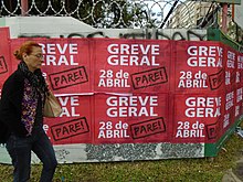
[[[32,136],[20,138],[11,135],[7,150],[14,167],[13,182],[27,182],[31,173],[31,151],[43,163],[41,182],[51,182],[57,165],[54,149],[42,127],[34,128]]]

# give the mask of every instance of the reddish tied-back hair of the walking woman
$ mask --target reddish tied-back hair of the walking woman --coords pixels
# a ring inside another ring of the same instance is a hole
[[[23,60],[22,54],[27,53],[28,55],[30,55],[32,53],[32,47],[36,46],[36,47],[42,47],[40,44],[38,44],[36,42],[33,41],[27,41],[24,42],[19,50],[17,50],[13,55],[15,56],[17,60]]]

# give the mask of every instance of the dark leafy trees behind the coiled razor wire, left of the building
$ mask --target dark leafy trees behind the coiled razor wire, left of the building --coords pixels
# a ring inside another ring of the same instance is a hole
[[[17,2],[2,0],[1,15],[21,14]],[[71,15],[94,28],[155,28],[145,4],[130,0],[29,0],[28,3],[29,15]]]

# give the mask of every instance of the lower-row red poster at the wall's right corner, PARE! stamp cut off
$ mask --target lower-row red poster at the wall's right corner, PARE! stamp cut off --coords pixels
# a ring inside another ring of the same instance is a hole
[[[224,95],[175,95],[173,142],[215,142],[222,135]]]

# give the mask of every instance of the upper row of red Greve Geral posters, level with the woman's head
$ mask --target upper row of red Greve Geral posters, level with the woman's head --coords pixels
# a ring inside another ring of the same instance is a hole
[[[25,39],[11,40],[13,52]],[[243,54],[219,42],[114,39],[35,39],[55,94],[221,93],[241,87]],[[4,46],[4,50],[8,46]],[[4,75],[9,75],[6,73]]]

